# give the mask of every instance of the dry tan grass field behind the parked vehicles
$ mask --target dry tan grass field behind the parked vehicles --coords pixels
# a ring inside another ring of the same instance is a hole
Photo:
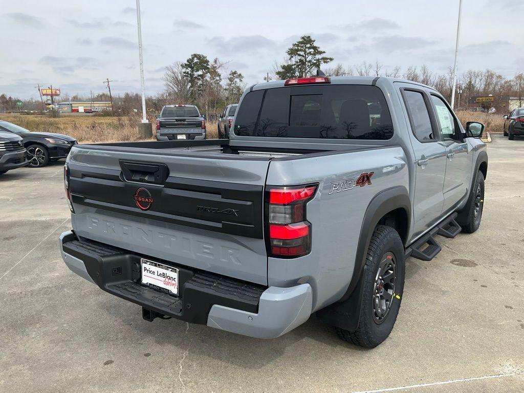
[[[501,114],[460,111],[457,112],[457,115],[464,126],[466,122],[476,121],[484,123],[487,132],[502,132],[504,118]],[[137,124],[140,122],[140,119],[140,116],[136,115],[93,116],[89,114],[72,114],[50,117],[48,115],[0,114],[0,120],[17,124],[32,131],[67,134],[76,138],[80,143],[139,140]],[[154,137],[155,117],[150,116],[149,122],[151,122],[152,139]],[[207,127],[208,138],[217,138],[216,123],[208,122]]]

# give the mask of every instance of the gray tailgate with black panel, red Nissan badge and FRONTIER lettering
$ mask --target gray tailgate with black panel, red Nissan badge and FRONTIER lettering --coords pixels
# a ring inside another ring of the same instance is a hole
[[[75,147],[75,233],[150,258],[267,285],[268,159]]]

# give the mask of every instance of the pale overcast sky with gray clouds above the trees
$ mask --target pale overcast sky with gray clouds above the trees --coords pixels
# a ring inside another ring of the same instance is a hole
[[[0,93],[37,98],[37,83],[62,92],[139,92],[136,2],[0,0]],[[247,84],[263,81],[301,35],[332,65],[378,59],[384,68],[453,64],[459,0],[141,2],[146,94],[163,90],[165,67],[191,53],[230,61]],[[464,0],[459,71],[524,71],[515,17],[524,0]]]

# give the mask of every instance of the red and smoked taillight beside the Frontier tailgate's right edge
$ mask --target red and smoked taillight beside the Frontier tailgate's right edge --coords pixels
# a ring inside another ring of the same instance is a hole
[[[306,204],[316,185],[269,187],[266,194],[268,255],[294,258],[311,251],[311,224],[306,221]]]

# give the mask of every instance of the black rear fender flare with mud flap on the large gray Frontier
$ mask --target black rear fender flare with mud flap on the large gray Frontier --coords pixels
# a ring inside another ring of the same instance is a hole
[[[366,264],[369,242],[380,219],[396,209],[405,210],[408,217],[407,231],[409,231],[411,200],[405,187],[398,186],[383,190],[369,202],[358,239],[353,276],[347,290],[337,302],[316,312],[316,316],[324,323],[349,331],[354,331],[358,327],[363,291],[362,273]],[[402,240],[406,245],[407,233]]]

